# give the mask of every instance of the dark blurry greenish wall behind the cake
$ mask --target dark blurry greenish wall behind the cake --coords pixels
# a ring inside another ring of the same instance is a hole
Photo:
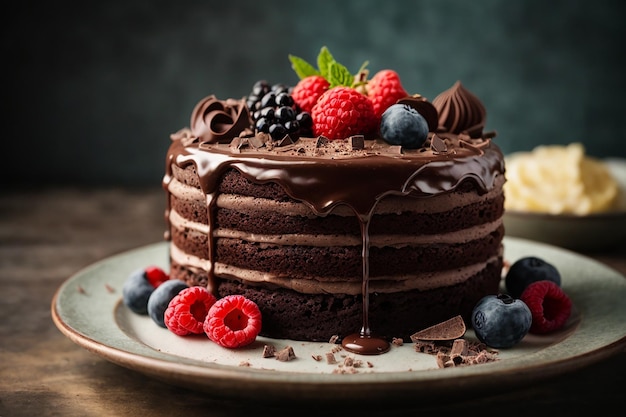
[[[2,183],[157,185],[208,94],[295,84],[326,45],[433,99],[457,79],[505,153],[582,142],[626,157],[626,2],[20,2],[2,17]]]

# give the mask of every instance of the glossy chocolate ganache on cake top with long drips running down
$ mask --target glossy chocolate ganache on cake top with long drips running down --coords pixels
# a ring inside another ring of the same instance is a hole
[[[459,84],[454,91],[457,93],[449,92],[447,96],[463,95],[464,90],[460,90]],[[453,98],[450,101],[459,102]],[[255,136],[250,132],[249,122],[242,122],[247,119],[244,108],[243,102],[220,102],[213,96],[199,103],[192,115],[192,130],[183,129],[171,136],[164,188],[168,188],[172,179],[172,164],[180,168],[195,165],[206,195],[209,236],[214,229],[211,212],[219,182],[230,168],[255,183],[279,184],[289,196],[302,201],[319,216],[327,215],[338,205],[351,208],[361,223],[363,326],[360,332],[344,337],[342,343],[354,353],[387,351],[389,343],[377,338],[369,328],[368,228],[372,213],[386,196],[429,198],[451,192],[464,181],[474,182],[480,193],[488,192],[496,178],[504,174],[500,149],[490,138],[442,132],[448,129],[465,132],[474,125],[480,125],[482,132],[484,121],[478,120],[478,116],[484,116],[482,107],[450,104],[440,112],[439,131],[430,132],[418,149],[403,149],[381,139],[363,137],[300,138],[295,142],[286,137],[283,141],[273,141],[268,135]],[[465,111],[471,115],[464,117]],[[450,118],[455,121],[450,123]],[[169,210],[168,204],[166,218]],[[208,239],[208,242],[207,274],[209,287],[215,288],[215,283],[211,283],[215,280],[214,241]]]

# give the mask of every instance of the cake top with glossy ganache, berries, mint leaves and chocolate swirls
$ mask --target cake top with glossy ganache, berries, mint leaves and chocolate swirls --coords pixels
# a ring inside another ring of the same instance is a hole
[[[241,99],[200,100],[189,127],[171,135],[164,184],[172,163],[194,164],[211,194],[234,168],[318,214],[345,204],[367,219],[387,195],[429,197],[466,180],[484,193],[504,173],[495,133],[483,132],[485,108],[460,82],[431,103],[395,71],[352,76],[325,48],[317,69],[290,59],[294,87],[258,81]]]

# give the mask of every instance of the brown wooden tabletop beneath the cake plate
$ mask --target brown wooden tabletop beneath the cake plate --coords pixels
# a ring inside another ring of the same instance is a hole
[[[0,191],[0,416],[235,416],[301,407],[221,401],[110,363],[53,324],[50,303],[71,275],[110,255],[162,240],[164,195],[153,189]],[[591,256],[626,275],[626,246]],[[626,300],[624,300],[626,302]],[[626,318],[624,318],[626,320]],[[626,352],[511,392],[440,406],[386,406],[382,415],[581,415],[626,412]],[[367,404],[366,410],[371,410]],[[356,415],[353,409],[319,415]],[[380,413],[379,413],[380,414]],[[182,415],[182,414],[181,414]]]

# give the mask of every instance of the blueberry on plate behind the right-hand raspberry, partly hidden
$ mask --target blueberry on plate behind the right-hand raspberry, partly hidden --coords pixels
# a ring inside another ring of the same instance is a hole
[[[561,286],[561,274],[554,265],[541,258],[527,256],[517,260],[509,272],[507,272],[504,282],[509,295],[519,298],[522,292],[535,281],[552,281]]]

